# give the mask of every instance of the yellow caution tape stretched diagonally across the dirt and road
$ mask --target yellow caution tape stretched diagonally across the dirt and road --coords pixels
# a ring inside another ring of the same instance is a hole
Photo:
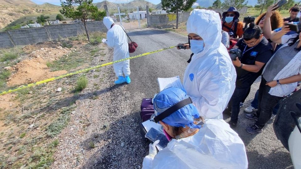
[[[152,51],[152,52],[147,52],[147,53],[144,53],[144,54],[132,56],[132,57],[121,59],[121,60],[117,60],[117,61],[114,61],[114,62],[109,62],[109,63],[106,63],[106,64],[97,65],[97,66],[94,66],[94,67],[91,67],[91,68],[79,70],[79,71],[72,72],[72,73],[63,74],[61,76],[57,76],[57,77],[45,79],[45,80],[42,80],[42,81],[38,81],[38,82],[35,82],[35,83],[31,83],[31,84],[28,84],[28,85],[24,85],[24,86],[18,87],[16,89],[10,89],[10,90],[6,90],[6,91],[3,91],[3,92],[0,91],[0,95],[5,95],[7,93],[11,93],[11,92],[15,92],[15,91],[18,91],[18,90],[26,89],[26,88],[29,88],[29,87],[32,87],[32,86],[35,86],[35,85],[40,85],[40,84],[43,84],[43,83],[46,83],[46,82],[50,82],[52,80],[61,79],[63,77],[67,77],[67,76],[79,74],[79,73],[82,73],[82,72],[87,72],[87,71],[92,70],[92,69],[100,68],[100,67],[103,67],[103,66],[107,66],[107,65],[110,65],[110,64],[117,63],[117,62],[122,62],[124,60],[139,58],[141,56],[145,56],[145,55],[148,55],[148,54],[153,54],[153,53],[161,52],[161,51],[166,50],[166,49],[172,49],[174,47],[176,47],[176,46],[172,46],[172,47],[169,47],[169,48],[163,48],[163,49],[155,50],[155,51]]]

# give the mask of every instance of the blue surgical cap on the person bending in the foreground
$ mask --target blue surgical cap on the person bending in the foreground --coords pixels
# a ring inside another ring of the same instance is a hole
[[[177,87],[164,89],[154,98],[155,114],[160,115],[169,107],[187,98],[185,91]],[[196,107],[193,104],[189,104],[167,116],[162,121],[174,127],[186,127],[187,125],[190,128],[200,128],[200,126],[193,123],[193,119],[198,117],[199,113]]]

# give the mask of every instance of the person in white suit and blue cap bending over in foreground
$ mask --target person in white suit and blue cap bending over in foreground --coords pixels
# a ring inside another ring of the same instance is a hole
[[[168,108],[187,98],[185,91],[176,87],[162,90],[154,98],[157,120],[160,120],[166,138],[172,139],[158,153],[159,140],[150,143],[149,155],[144,157],[142,168],[246,169],[245,145],[224,120],[205,119],[203,125],[199,125],[203,118],[191,102],[168,112]],[[165,113],[168,116],[160,117]]]

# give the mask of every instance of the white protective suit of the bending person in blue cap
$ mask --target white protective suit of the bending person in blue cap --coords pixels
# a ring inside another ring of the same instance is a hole
[[[193,136],[172,139],[155,157],[145,156],[143,169],[245,169],[245,145],[224,120],[207,119]]]

